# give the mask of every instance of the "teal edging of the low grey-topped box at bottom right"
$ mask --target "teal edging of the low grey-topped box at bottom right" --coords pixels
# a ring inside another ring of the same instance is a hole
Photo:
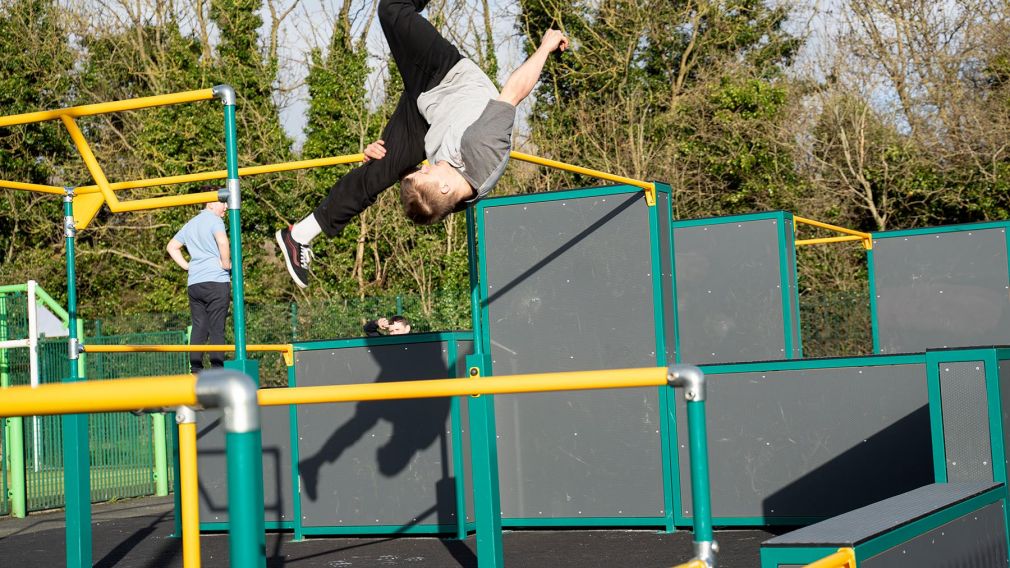
[[[873,557],[915,537],[1000,501],[1004,501],[1005,505],[1006,486],[994,487],[861,543],[839,543],[835,546],[818,547],[762,547],[761,566],[762,568],[779,568],[780,565],[784,564],[807,564],[833,554],[839,548],[851,548],[855,553],[856,566],[858,566],[861,561],[871,560]]]

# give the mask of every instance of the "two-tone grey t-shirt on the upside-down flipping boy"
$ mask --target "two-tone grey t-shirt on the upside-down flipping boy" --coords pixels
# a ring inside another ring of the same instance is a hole
[[[498,89],[477,64],[462,59],[441,83],[417,98],[429,127],[428,162],[448,162],[477,190],[480,199],[498,183],[512,150],[515,107],[498,99]]]

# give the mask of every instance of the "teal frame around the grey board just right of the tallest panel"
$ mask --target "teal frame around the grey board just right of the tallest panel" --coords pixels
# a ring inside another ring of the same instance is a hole
[[[799,297],[799,270],[796,265],[796,247],[792,247],[791,251],[787,251],[786,243],[792,242],[793,238],[786,234],[787,224],[792,229],[794,226],[793,214],[788,211],[769,211],[763,213],[747,213],[743,215],[727,215],[721,217],[703,217],[697,219],[682,219],[675,220],[671,224],[671,255],[676,259],[677,253],[674,249],[674,243],[677,239],[674,236],[674,232],[678,228],[689,228],[697,226],[711,226],[716,224],[729,224],[729,223],[743,223],[752,221],[776,221],[776,232],[779,236],[779,282],[781,284],[781,294],[782,294],[782,333],[783,333],[783,352],[782,359],[800,359],[803,357],[803,332],[800,321],[800,297]],[[795,234],[795,232],[794,232]],[[673,301],[676,306],[677,301],[677,269],[674,266],[674,297]],[[790,268],[792,268],[793,276],[790,278]],[[792,285],[792,292],[790,291],[790,286]],[[796,307],[795,317],[793,313],[793,307]],[[677,311],[676,309],[674,310]],[[795,321],[794,321],[795,319]],[[678,321],[678,324],[680,322]],[[796,326],[797,337],[793,337],[793,326]],[[678,363],[691,363],[690,361],[682,361],[681,358],[681,333],[680,327],[677,328],[676,335],[676,353]],[[794,351],[794,347],[796,348]]]

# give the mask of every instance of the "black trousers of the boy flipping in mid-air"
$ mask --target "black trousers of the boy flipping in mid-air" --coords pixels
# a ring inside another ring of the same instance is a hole
[[[417,97],[445,77],[463,59],[418,12],[428,0],[381,0],[379,23],[403,78],[403,94],[382,133],[386,157],[351,170],[329,190],[314,214],[323,231],[335,236],[379,194],[424,160],[428,123],[417,110]]]

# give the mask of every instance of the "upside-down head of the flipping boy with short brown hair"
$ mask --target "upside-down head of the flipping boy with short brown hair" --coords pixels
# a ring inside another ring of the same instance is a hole
[[[400,178],[400,202],[407,218],[418,224],[431,224],[456,210],[474,196],[466,179],[448,164],[425,164]]]

